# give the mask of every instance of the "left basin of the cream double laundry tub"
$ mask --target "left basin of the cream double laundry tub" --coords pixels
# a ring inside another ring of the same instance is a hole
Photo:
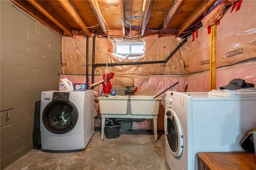
[[[99,109],[101,114],[127,114],[129,95],[100,96]]]

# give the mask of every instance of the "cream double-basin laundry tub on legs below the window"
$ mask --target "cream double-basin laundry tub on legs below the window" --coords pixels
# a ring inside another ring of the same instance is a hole
[[[100,96],[101,140],[104,138],[105,118],[150,118],[153,119],[155,141],[157,141],[157,115],[161,98],[154,95]]]

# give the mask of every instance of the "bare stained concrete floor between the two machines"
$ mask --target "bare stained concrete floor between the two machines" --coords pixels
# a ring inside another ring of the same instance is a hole
[[[137,133],[137,132],[136,132]],[[158,135],[121,134],[100,140],[95,132],[86,150],[76,153],[46,153],[32,150],[9,165],[13,169],[169,169],[165,160],[165,139]]]

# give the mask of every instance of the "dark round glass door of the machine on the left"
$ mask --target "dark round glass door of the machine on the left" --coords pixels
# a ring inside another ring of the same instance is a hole
[[[53,101],[43,113],[42,122],[52,133],[63,134],[71,131],[78,120],[78,110],[70,101]]]

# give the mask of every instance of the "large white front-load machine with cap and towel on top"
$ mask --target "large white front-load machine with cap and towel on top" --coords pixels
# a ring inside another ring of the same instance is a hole
[[[172,170],[197,170],[199,152],[242,151],[240,140],[255,127],[256,98],[166,92],[165,154]]]

